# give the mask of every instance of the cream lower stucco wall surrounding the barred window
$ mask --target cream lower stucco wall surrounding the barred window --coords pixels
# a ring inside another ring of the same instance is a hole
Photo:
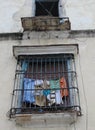
[[[79,44],[79,54],[76,56],[76,68],[78,85],[80,90],[80,102],[82,116],[77,123],[68,127],[23,128],[15,124],[15,120],[9,120],[6,116],[10,109],[11,94],[14,84],[16,60],[13,57],[13,45],[45,45],[45,44]],[[22,41],[0,41],[0,129],[7,130],[77,130],[95,129],[95,38],[76,39],[32,39]],[[87,101],[87,104],[86,104]]]

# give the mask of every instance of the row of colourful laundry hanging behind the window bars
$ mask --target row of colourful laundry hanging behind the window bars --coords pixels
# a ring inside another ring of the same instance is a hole
[[[35,80],[24,78],[23,102],[34,103],[38,106],[62,104],[62,98],[68,96],[67,84],[64,77],[60,80]]]

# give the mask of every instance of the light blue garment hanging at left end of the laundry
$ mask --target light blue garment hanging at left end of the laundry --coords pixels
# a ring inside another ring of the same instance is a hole
[[[32,90],[35,89],[34,82],[35,80],[24,78],[24,96],[23,96],[24,102],[30,102],[30,103],[35,102],[34,90]],[[25,89],[29,89],[29,90],[25,90]]]

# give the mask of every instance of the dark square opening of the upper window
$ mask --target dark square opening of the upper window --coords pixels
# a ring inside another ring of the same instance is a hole
[[[36,16],[58,17],[58,2],[36,1]]]

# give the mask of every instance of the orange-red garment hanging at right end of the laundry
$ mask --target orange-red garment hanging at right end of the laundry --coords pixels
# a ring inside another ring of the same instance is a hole
[[[62,78],[60,79],[60,88],[61,88],[60,93],[61,93],[62,98],[63,98],[64,96],[66,97],[66,96],[69,95],[68,89],[67,89],[67,83],[66,83],[66,80],[65,80],[64,77],[62,77]]]

